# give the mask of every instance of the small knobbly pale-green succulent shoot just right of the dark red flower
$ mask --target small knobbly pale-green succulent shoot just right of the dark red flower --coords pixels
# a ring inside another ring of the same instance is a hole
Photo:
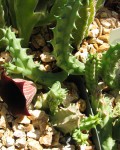
[[[60,82],[56,81],[47,93],[37,95],[34,107],[44,110],[49,109],[51,115],[54,115],[63,103],[66,95],[67,90],[61,87]]]

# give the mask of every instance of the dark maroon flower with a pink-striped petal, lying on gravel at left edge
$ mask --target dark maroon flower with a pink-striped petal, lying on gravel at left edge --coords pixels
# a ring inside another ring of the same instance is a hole
[[[36,91],[37,88],[32,81],[11,79],[5,72],[1,73],[0,96],[13,115],[30,115],[27,107]]]

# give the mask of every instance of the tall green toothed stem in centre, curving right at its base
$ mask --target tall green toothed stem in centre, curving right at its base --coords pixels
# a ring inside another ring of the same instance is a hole
[[[81,0],[69,0],[64,5],[60,16],[57,16],[57,25],[53,29],[54,38],[51,41],[57,65],[69,74],[84,74],[85,65],[77,60],[72,54],[71,36],[75,28]],[[65,28],[67,27],[67,28]]]

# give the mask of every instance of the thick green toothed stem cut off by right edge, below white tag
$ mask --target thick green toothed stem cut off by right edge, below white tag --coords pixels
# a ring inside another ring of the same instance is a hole
[[[101,75],[105,83],[113,89],[120,89],[120,44],[110,46],[101,62]]]

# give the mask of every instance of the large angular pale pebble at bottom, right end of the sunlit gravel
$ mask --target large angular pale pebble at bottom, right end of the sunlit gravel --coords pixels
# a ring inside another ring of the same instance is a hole
[[[39,139],[40,144],[45,146],[51,146],[52,144],[52,133],[49,133],[47,135],[41,136]]]

